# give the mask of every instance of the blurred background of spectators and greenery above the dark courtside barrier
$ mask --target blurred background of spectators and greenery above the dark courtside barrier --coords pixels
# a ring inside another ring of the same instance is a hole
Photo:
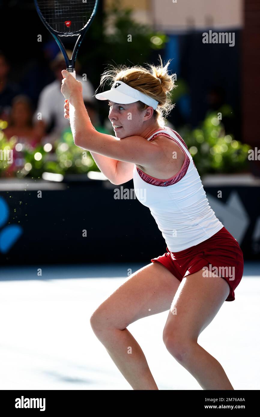
[[[83,158],[73,143],[60,91],[63,55],[33,0],[0,0],[0,15],[6,34],[0,43],[0,150],[13,149],[14,158],[12,164],[2,158],[0,176],[99,171],[90,153]],[[167,124],[183,136],[200,175],[260,176],[257,158],[248,160],[259,141],[257,15],[256,0],[99,1],[76,64],[93,126],[114,134],[107,106],[94,97],[107,66],[157,64],[160,54],[177,74]],[[234,33],[235,44],[203,43],[209,30]]]

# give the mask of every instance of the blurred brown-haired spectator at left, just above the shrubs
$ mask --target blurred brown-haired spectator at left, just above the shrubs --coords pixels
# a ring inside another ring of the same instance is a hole
[[[5,136],[10,139],[17,136],[19,143],[28,143],[33,148],[40,142],[41,134],[33,127],[33,109],[26,95],[17,95],[13,99],[8,127]]]

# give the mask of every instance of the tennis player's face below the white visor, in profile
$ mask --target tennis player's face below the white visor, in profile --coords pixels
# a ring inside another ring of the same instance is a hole
[[[139,110],[136,103],[119,104],[109,101],[109,120],[116,137],[126,138],[140,134],[144,123],[144,112]]]

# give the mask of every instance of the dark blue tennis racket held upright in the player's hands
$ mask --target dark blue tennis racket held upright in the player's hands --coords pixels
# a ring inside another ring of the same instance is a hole
[[[96,14],[98,0],[34,0],[40,19],[63,53],[66,69],[76,78],[75,61],[83,36]],[[71,58],[61,38],[77,37]]]

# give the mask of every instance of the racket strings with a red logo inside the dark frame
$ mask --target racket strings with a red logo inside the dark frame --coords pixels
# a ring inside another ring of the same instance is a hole
[[[82,30],[91,19],[95,0],[38,0],[45,22],[56,32],[70,34]],[[66,22],[69,22],[69,25]]]

